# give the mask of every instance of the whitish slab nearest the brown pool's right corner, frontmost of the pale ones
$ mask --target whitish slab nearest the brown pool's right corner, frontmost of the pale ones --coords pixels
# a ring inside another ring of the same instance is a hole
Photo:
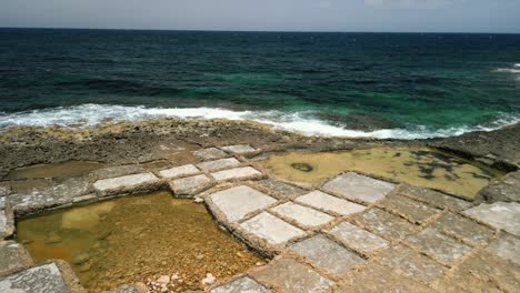
[[[269,244],[282,244],[292,238],[301,236],[304,232],[288,222],[262,212],[240,224],[247,232],[266,240]]]

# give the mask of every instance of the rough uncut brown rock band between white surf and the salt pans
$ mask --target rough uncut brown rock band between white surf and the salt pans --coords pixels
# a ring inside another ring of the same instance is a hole
[[[11,169],[37,163],[70,160],[113,163],[153,161],[160,144],[179,143],[199,148],[249,143],[261,145],[263,152],[349,150],[381,145],[431,146],[514,171],[520,166],[519,141],[520,123],[491,132],[426,140],[309,137],[257,122],[229,120],[162,119],[76,130],[20,127],[0,133],[0,178]]]

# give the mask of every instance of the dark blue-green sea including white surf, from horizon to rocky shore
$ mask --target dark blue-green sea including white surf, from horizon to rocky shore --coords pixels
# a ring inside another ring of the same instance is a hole
[[[0,128],[160,115],[423,138],[520,120],[520,34],[0,29]]]

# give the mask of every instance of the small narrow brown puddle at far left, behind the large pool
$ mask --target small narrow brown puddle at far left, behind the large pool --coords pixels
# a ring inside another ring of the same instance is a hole
[[[69,178],[84,175],[104,164],[93,161],[67,161],[51,164],[36,164],[11,170],[7,179]]]

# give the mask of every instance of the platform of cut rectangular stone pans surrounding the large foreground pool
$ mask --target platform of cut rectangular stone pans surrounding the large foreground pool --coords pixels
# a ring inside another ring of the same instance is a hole
[[[213,145],[188,164],[108,165],[29,189],[0,186],[0,292],[84,291],[67,263],[34,263],[12,241],[16,218],[154,190],[203,202],[270,260],[208,281],[208,292],[520,292],[519,172],[468,199],[353,171],[301,184],[272,175],[261,151]],[[112,292],[176,292],[120,285]]]

